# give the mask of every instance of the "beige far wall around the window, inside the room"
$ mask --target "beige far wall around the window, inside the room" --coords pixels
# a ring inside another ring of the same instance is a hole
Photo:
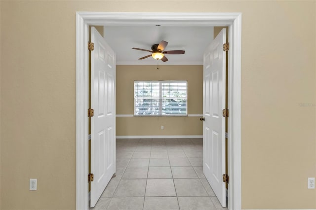
[[[188,114],[203,113],[203,66],[117,66],[117,114],[134,114],[135,80],[187,80]],[[116,127],[117,136],[202,135],[199,117],[117,117]]]

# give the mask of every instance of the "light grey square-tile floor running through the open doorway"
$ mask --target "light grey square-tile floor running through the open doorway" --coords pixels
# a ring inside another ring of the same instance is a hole
[[[227,210],[202,169],[202,139],[118,139],[116,177],[91,210]]]

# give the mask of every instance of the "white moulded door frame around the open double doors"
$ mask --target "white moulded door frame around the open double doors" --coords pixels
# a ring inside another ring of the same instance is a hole
[[[228,207],[241,209],[241,13],[76,13],[76,209],[88,209],[88,49],[90,25],[228,26]]]

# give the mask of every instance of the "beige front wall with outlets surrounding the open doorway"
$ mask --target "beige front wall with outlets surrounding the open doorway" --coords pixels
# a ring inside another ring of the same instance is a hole
[[[316,209],[316,1],[0,4],[1,210],[76,207],[76,11],[242,12],[242,208]]]

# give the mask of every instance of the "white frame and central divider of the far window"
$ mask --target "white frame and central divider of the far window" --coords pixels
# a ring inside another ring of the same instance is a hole
[[[135,98],[135,83],[136,82],[151,82],[151,83],[159,83],[159,114],[136,114],[136,98]],[[186,113],[185,114],[162,114],[162,83],[186,83]],[[133,96],[133,104],[134,104],[134,116],[156,116],[156,117],[165,117],[165,116],[175,116],[175,117],[186,117],[188,116],[188,80],[134,80],[133,83],[134,96]]]

